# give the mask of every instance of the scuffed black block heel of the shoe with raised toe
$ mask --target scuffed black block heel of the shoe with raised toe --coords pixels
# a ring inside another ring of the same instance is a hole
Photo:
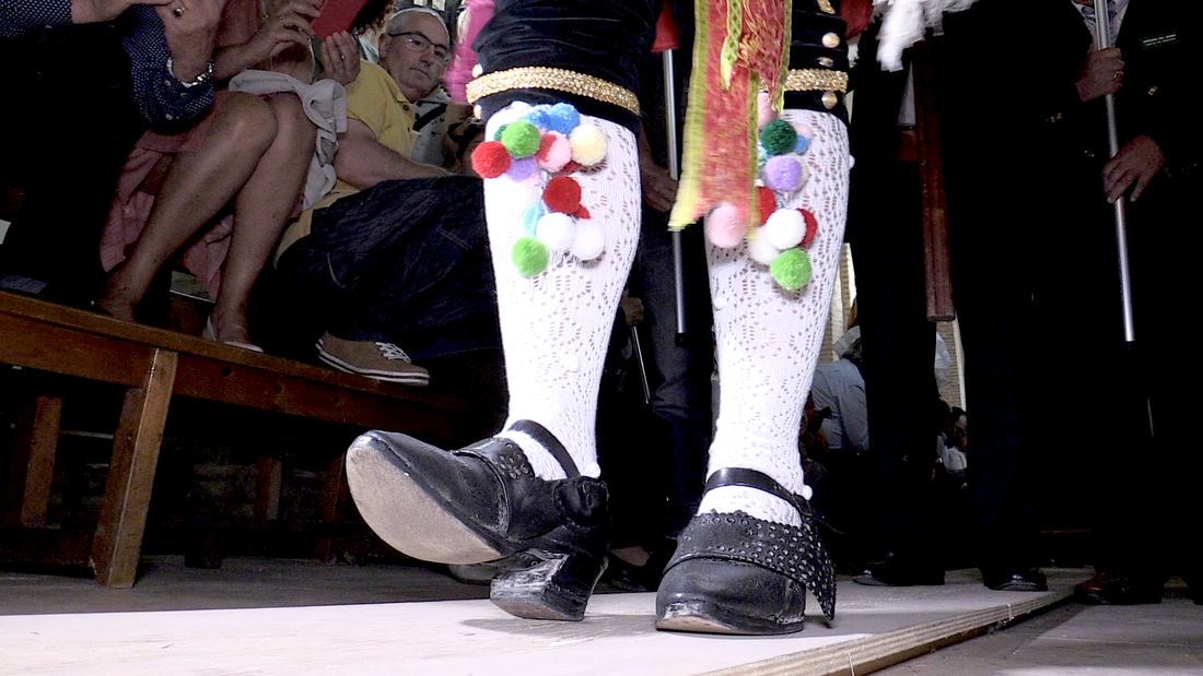
[[[579,622],[585,617],[585,606],[605,570],[605,557],[544,550],[528,550],[523,555],[533,566],[493,578],[488,599],[505,612],[527,620]]]

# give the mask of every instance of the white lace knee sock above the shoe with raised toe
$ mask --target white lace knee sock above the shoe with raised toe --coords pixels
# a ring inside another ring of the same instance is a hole
[[[529,110],[522,103],[498,112],[488,120],[486,138],[494,138],[502,125],[525,114]],[[577,220],[575,226],[576,244],[583,243],[585,249],[589,244],[581,240],[589,233],[582,234],[580,223],[599,226],[605,238],[600,256],[582,261],[571,252],[552,251],[545,271],[523,276],[512,252],[515,243],[532,229],[529,208],[544,193],[549,174],[537,171],[521,181],[508,177],[485,181],[510,393],[509,419],[498,436],[517,443],[535,474],[544,479],[562,478],[559,463],[538,442],[510,431],[510,426],[523,419],[540,423],[564,444],[582,474],[600,473],[594,439],[598,385],[618,298],[639,239],[634,136],[599,118],[582,115],[581,125],[595,126],[608,139],[602,163],[570,174],[580,184],[580,203],[588,211],[588,219]]]

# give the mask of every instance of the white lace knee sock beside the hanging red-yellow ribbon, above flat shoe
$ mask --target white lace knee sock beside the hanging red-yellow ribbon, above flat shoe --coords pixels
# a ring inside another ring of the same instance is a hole
[[[848,133],[843,122],[824,113],[786,110],[782,118],[812,132],[810,150],[802,155],[810,180],[786,207],[804,207],[818,220],[808,249],[813,273],[800,292],[786,292],[765,265],[748,257],[747,245],[710,246],[721,390],[709,471],[757,469],[808,498],[798,437],[843,240]],[[715,489],[699,507],[699,513],[736,510],[780,524],[800,524],[798,513],[784,501],[755,489]]]

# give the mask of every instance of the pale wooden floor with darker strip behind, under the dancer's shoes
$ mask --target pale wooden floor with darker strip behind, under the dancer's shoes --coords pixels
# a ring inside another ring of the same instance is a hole
[[[437,569],[160,557],[132,590],[0,573],[0,674],[866,674],[1047,609],[1089,576],[1047,573],[1047,593],[991,592],[974,570],[942,587],[841,580],[835,622],[811,599],[801,633],[734,638],[656,632],[650,593],[603,590],[583,622],[539,622]]]

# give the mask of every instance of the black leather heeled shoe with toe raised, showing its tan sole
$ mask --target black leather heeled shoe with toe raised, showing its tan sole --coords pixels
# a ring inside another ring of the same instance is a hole
[[[545,427],[522,420],[512,429],[547,448],[568,478],[535,477],[522,449],[504,438],[449,453],[372,431],[346,451],[351,496],[372,530],[409,556],[499,562],[490,599],[506,612],[581,620],[606,566],[609,493],[600,479],[580,475]]]

